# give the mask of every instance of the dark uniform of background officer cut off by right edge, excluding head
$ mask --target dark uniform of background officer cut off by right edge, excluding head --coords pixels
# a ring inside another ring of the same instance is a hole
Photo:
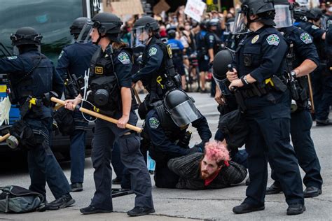
[[[307,31],[313,39],[314,45],[320,59],[320,64],[317,69],[312,73],[312,90],[314,97],[314,110],[317,120],[328,119],[330,113],[330,105],[332,104],[332,76],[326,74],[326,49],[324,40],[321,38],[324,30],[320,29],[311,22],[296,22],[294,25]]]

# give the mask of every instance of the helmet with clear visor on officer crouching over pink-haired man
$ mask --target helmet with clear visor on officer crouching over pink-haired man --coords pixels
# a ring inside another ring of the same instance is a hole
[[[170,90],[165,94],[164,106],[167,114],[178,127],[186,127],[201,117],[193,99],[183,90]]]

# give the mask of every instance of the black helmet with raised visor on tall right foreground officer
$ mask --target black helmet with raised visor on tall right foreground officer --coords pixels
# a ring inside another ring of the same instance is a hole
[[[265,25],[275,25],[273,19],[275,18],[275,7],[273,4],[273,0],[244,0],[241,5],[241,9],[237,16],[237,21],[235,21],[235,30],[243,30],[244,28],[244,17],[247,18],[247,24],[245,26],[249,28],[250,23],[252,22],[261,22]],[[258,17],[254,20],[250,19],[250,15],[258,15]],[[240,27],[236,27],[236,25]],[[243,34],[243,33],[235,33],[235,34]]]

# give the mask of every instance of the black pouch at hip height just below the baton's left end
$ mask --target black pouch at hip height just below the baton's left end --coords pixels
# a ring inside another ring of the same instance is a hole
[[[61,107],[55,112],[54,120],[63,136],[68,136],[74,131],[73,111]]]

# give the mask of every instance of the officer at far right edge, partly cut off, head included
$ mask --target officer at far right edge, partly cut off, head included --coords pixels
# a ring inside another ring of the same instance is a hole
[[[303,20],[298,20],[294,23],[294,25],[307,31],[313,37],[313,42],[320,59],[318,68],[312,73],[316,126],[332,125],[331,120],[328,119],[330,105],[332,104],[332,76],[328,75],[326,68],[326,32],[324,29],[319,28],[322,15],[319,8],[312,8],[307,10],[305,17],[301,17]]]

